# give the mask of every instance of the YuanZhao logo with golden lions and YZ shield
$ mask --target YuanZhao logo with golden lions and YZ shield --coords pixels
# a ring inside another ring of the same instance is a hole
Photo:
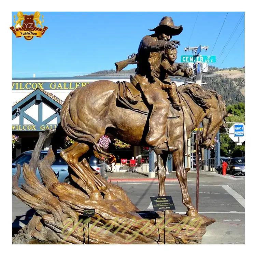
[[[10,27],[10,29],[16,37],[24,37],[26,40],[32,40],[33,37],[42,37],[48,27],[43,27],[44,16],[42,15],[42,20],[40,20],[40,16],[40,12],[35,12],[31,15],[23,15],[22,12],[18,12],[17,20],[15,21],[16,15],[14,15],[13,20],[15,28]],[[41,28],[38,26],[41,26]]]

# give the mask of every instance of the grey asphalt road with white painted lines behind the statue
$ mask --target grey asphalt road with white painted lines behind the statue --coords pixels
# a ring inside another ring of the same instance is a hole
[[[123,187],[141,211],[152,210],[150,197],[158,195],[157,182],[119,182],[118,185]],[[194,204],[195,185],[195,178],[190,175],[188,189]],[[175,212],[186,211],[177,181],[166,183],[166,193],[173,198]],[[12,207],[13,228],[27,224],[33,210],[15,196]],[[199,213],[216,219],[207,228],[202,244],[244,244],[244,177],[202,177],[199,186]]]

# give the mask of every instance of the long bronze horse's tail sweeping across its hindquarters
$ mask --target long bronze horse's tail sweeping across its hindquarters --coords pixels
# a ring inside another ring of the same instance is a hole
[[[93,144],[94,150],[100,154],[99,157],[109,158],[110,154],[104,152],[100,148],[98,142],[95,140],[93,135],[87,132],[86,130],[83,130],[80,127],[76,126],[73,120],[71,119],[70,112],[69,112],[69,102],[72,95],[76,94],[78,91],[79,89],[71,91],[71,93],[68,95],[68,97],[63,103],[63,106],[60,112],[61,126],[71,139],[74,139],[75,141],[78,141],[78,142],[89,142]]]

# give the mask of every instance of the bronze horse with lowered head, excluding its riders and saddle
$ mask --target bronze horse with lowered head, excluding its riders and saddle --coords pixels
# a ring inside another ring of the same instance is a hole
[[[184,166],[186,138],[184,130],[188,137],[202,122],[202,144],[209,147],[214,143],[219,128],[227,127],[224,118],[228,114],[222,97],[213,90],[203,90],[199,85],[192,84],[181,85],[178,91],[185,106],[183,112],[180,111],[180,117],[168,118],[168,133],[173,142],[172,146],[179,148],[172,154],[172,157],[181,186],[182,201],[187,207],[186,214],[197,216],[198,213],[191,202],[187,188],[187,171]],[[92,149],[95,153],[97,151],[104,155],[97,142],[106,131],[128,144],[148,146],[145,142],[148,116],[118,104],[117,93],[117,83],[96,81],[75,89],[66,98],[61,110],[61,126],[70,138],[79,142],[61,152],[61,156],[70,165],[78,163],[78,158]],[[185,120],[185,126],[183,120]],[[159,196],[166,195],[167,157],[168,154],[157,155]],[[95,191],[95,194],[92,193],[90,197],[99,198],[97,193],[99,192]]]

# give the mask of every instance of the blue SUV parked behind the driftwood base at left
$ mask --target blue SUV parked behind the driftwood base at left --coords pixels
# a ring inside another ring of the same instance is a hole
[[[42,160],[46,156],[47,152],[48,152],[47,150],[42,150],[39,159]],[[59,153],[60,153],[60,150],[57,151],[56,160],[52,164],[52,169],[53,169],[54,174],[56,175],[57,179],[60,182],[69,183],[68,164],[66,163],[66,161],[63,158],[61,158]],[[12,175],[14,175],[17,171],[16,165],[19,163],[21,165],[21,167],[23,167],[23,163],[29,163],[31,156],[32,156],[32,151],[26,151],[26,152],[23,152],[22,154],[20,154],[15,159],[13,159]],[[98,171],[105,179],[108,179],[108,176],[106,175],[106,172],[105,172],[105,165],[104,165],[103,161],[99,160],[95,156],[91,156],[89,164],[94,170]],[[36,175],[37,175],[39,181],[42,183],[41,176],[39,174],[38,169],[36,171]],[[25,181],[23,178],[23,173],[21,172],[19,181],[18,181],[18,186],[20,187],[24,183],[25,183]]]

